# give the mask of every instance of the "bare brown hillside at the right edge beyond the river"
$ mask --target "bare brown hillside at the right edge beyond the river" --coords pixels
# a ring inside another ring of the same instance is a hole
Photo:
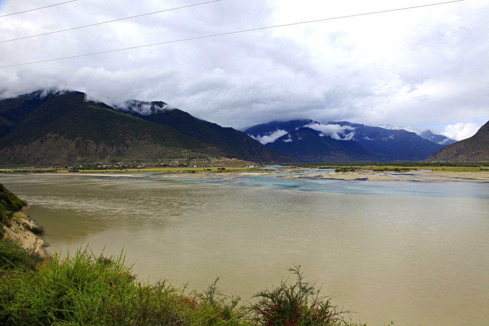
[[[444,147],[426,162],[489,162],[489,121],[472,137]]]

